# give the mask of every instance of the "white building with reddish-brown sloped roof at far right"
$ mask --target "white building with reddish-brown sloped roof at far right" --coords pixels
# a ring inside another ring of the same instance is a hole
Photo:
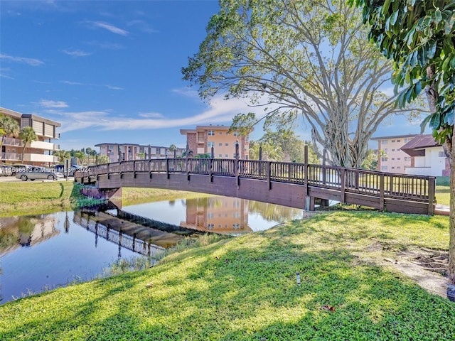
[[[406,167],[406,174],[449,176],[450,163],[444,148],[432,134],[418,135],[402,146],[402,151],[411,156],[411,165]]]

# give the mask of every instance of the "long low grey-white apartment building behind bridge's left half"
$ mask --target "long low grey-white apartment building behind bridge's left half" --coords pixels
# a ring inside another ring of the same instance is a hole
[[[95,144],[95,147],[100,147],[100,156],[107,156],[109,162],[173,158],[174,156],[174,151],[164,146],[104,143]],[[184,151],[184,148],[176,148],[176,157],[181,157]]]

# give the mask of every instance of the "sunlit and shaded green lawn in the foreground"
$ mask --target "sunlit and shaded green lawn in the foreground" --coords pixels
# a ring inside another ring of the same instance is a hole
[[[378,265],[400,250],[447,249],[448,226],[447,217],[321,213],[6,303],[0,339],[454,340],[454,303]]]

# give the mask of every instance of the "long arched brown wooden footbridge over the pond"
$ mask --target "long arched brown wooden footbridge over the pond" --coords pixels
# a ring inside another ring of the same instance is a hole
[[[307,159],[307,158],[306,158]],[[328,200],[380,211],[433,215],[435,178],[356,168],[220,158],[166,158],[90,166],[75,181],[107,197],[123,187],[240,197],[314,210]]]

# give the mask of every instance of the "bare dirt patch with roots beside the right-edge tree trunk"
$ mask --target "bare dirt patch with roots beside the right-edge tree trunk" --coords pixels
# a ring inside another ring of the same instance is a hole
[[[374,243],[365,248],[365,251],[378,253],[374,257],[384,266],[392,266],[406,276],[412,278],[419,286],[430,293],[447,297],[447,274],[449,253],[425,248],[416,248],[406,251],[396,251],[384,256],[387,248],[380,243]],[[379,256],[379,257],[378,257]]]

